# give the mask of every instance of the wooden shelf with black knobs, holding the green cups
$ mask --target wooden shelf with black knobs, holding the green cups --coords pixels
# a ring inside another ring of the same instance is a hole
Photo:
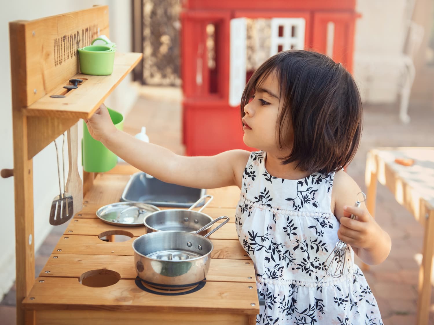
[[[24,109],[27,116],[64,117],[68,119],[88,118],[109,96],[116,86],[140,62],[141,53],[116,53],[111,75],[84,75],[78,73],[70,79],[84,79],[77,89],[66,93],[64,98],[50,97],[64,94],[66,84],[60,84],[44,97]]]

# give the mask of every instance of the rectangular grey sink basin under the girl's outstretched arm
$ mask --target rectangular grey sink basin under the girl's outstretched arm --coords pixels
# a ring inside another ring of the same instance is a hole
[[[122,193],[121,201],[139,201],[160,207],[190,208],[205,194],[203,188],[192,188],[147,178],[144,172],[131,176]],[[201,202],[198,206],[203,205]]]

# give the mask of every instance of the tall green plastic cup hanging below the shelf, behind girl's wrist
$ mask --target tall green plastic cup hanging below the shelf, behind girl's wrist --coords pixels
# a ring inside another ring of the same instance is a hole
[[[110,117],[118,130],[124,128],[124,116],[110,108]],[[107,149],[101,141],[97,141],[89,133],[83,121],[82,164],[85,172],[108,172],[118,163],[118,156]]]

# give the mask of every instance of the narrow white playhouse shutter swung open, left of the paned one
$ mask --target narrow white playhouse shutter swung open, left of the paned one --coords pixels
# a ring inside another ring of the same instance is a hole
[[[240,105],[246,86],[246,18],[230,20],[229,105]]]

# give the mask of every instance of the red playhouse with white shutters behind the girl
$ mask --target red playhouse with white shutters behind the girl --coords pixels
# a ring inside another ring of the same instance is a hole
[[[188,156],[243,143],[240,98],[266,58],[312,49],[352,71],[355,0],[185,0],[181,13],[183,142]]]

